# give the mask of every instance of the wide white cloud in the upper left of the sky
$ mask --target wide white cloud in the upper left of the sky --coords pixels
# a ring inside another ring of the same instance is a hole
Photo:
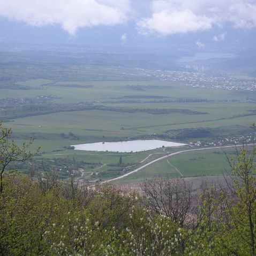
[[[80,27],[127,20],[130,0],[0,0],[0,16],[33,26],[60,24],[71,35]]]

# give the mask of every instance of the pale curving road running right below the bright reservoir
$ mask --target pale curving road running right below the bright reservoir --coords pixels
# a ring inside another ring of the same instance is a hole
[[[254,145],[254,144],[248,144],[247,146],[252,146],[252,145]],[[184,153],[184,152],[197,151],[197,150],[207,150],[207,149],[217,149],[217,148],[241,147],[241,146],[243,146],[243,145],[222,146],[222,147],[209,147],[209,148],[195,148],[195,149],[187,149],[187,150],[178,151],[178,152],[175,152],[175,153],[171,153],[171,154],[168,154],[168,155],[159,157],[159,158],[157,158],[157,159],[155,159],[155,160],[153,160],[153,161],[151,161],[151,162],[149,162],[149,163],[146,163],[146,164],[142,165],[141,167],[139,167],[139,168],[137,168],[137,169],[135,169],[135,170],[133,170],[133,171],[127,172],[127,174],[124,174],[124,175],[122,175],[122,176],[116,177],[116,178],[114,178],[114,179],[104,180],[103,182],[101,182],[101,184],[108,183],[108,182],[112,182],[113,180],[117,180],[117,179],[122,179],[122,178],[124,178],[124,177],[127,177],[127,176],[133,174],[134,172],[137,172],[137,171],[139,171],[139,170],[141,170],[141,169],[147,167],[148,165],[150,165],[150,164],[152,164],[152,163],[155,163],[155,162],[157,162],[157,161],[163,160],[163,159],[165,159],[165,158],[167,158],[167,157],[170,157],[170,156],[173,156],[173,155],[182,154],[182,153]]]

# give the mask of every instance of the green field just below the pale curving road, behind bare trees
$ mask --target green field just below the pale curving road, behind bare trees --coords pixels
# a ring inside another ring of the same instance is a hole
[[[178,178],[231,174],[231,168],[224,152],[227,153],[228,157],[235,157],[235,149],[233,148],[185,152],[157,161],[134,174],[112,183],[143,182],[145,179],[154,177]]]

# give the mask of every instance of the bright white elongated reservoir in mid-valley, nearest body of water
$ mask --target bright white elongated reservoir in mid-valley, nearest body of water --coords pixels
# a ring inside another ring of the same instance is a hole
[[[110,151],[110,152],[139,152],[161,147],[178,147],[186,144],[164,140],[130,140],[118,142],[96,142],[71,145],[75,150]]]

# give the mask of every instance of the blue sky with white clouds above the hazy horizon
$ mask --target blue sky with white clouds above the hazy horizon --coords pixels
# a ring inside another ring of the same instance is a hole
[[[256,0],[0,0],[0,40],[109,45],[256,42]]]

